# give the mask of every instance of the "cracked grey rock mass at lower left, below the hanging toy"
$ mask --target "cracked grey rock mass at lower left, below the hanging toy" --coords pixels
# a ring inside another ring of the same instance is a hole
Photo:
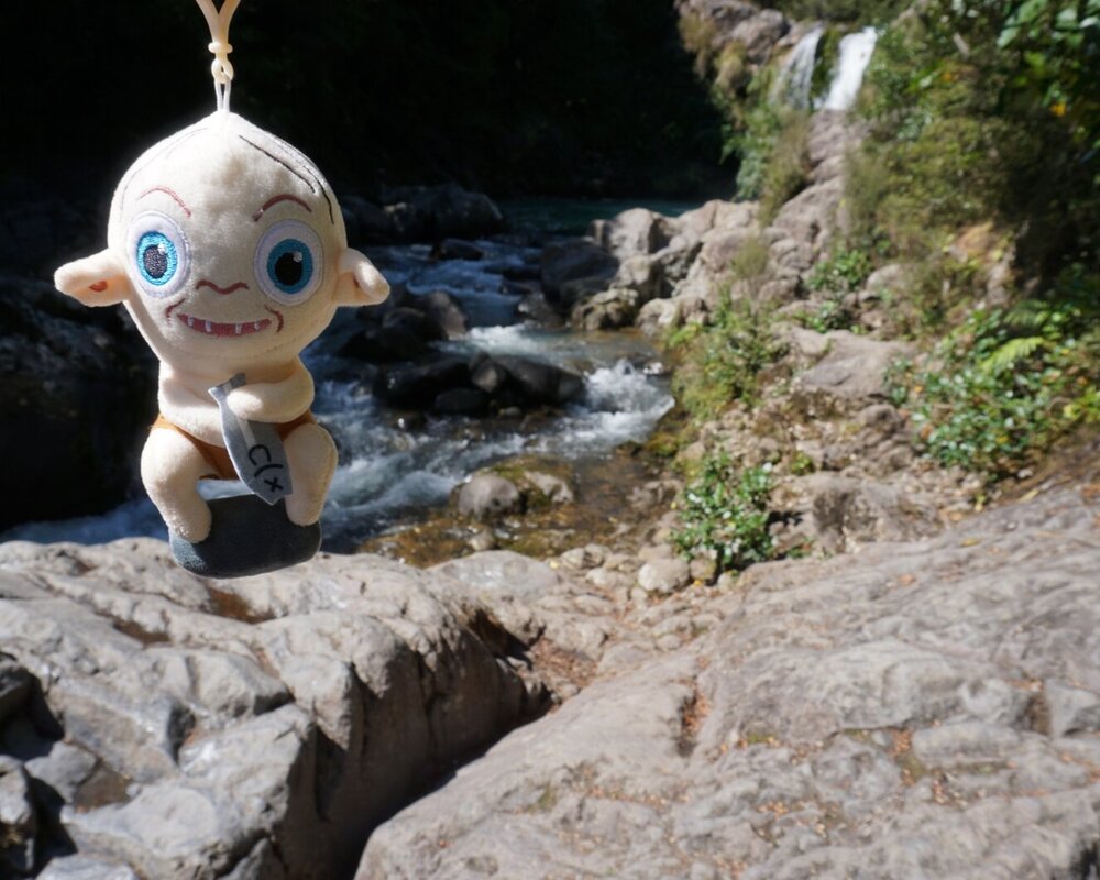
[[[374,557],[215,586],[152,540],[4,544],[0,876],[348,876],[375,824],[541,711],[497,627]]]

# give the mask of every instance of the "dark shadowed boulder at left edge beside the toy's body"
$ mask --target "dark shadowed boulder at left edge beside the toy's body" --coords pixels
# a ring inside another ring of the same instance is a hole
[[[98,514],[136,488],[156,364],[120,311],[0,277],[0,529]]]

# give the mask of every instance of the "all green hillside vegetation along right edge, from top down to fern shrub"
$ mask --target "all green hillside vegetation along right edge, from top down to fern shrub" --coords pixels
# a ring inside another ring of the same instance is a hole
[[[935,0],[880,40],[851,245],[915,267],[911,332],[948,330],[898,392],[945,464],[1005,476],[1100,421],[1098,84],[1100,0]],[[958,246],[981,223],[1004,244]]]

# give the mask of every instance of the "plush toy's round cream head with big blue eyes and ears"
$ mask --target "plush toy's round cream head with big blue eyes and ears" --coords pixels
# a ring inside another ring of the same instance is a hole
[[[114,193],[107,250],[55,283],[88,305],[123,302],[162,362],[227,375],[293,360],[338,306],[389,290],[348,248],[314,164],[228,111],[146,151]]]

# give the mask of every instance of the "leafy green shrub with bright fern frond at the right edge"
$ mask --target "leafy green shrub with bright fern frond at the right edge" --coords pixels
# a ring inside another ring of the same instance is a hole
[[[920,444],[945,465],[1012,474],[1074,426],[1100,421],[1100,284],[1078,267],[1053,296],[976,310],[934,363],[902,365],[894,380]]]

